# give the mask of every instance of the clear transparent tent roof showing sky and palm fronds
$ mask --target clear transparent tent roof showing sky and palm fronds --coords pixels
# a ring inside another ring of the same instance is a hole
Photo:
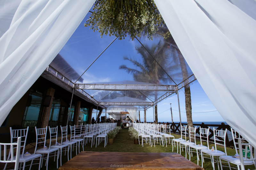
[[[115,40],[115,36],[109,35],[100,38],[99,32],[84,27],[90,14],[89,12],[85,16],[61,49],[59,54],[66,64],[61,64],[59,69],[64,76],[76,84],[115,85],[114,89],[110,87],[88,89],[79,86],[93,96],[99,105],[113,109],[145,109],[173,94],[176,85],[188,81],[185,83],[187,85],[195,80],[195,77],[190,77],[193,72],[166,27],[159,27],[153,36],[153,41],[143,36],[132,41],[129,35],[123,40]],[[99,55],[100,57],[93,63]],[[81,75],[78,81],[76,81],[79,78],[77,74]],[[154,87],[157,90],[153,88],[148,90],[148,87],[140,90],[131,87],[127,90],[123,87],[116,88],[117,85],[158,86]],[[163,85],[172,87],[165,89]],[[182,86],[183,84],[180,85]]]

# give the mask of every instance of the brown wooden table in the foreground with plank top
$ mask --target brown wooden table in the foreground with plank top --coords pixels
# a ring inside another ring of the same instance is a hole
[[[204,170],[178,153],[80,152],[59,170]]]

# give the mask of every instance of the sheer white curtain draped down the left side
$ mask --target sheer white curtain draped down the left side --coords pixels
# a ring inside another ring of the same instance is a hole
[[[0,1],[0,124],[65,45],[94,1]]]

